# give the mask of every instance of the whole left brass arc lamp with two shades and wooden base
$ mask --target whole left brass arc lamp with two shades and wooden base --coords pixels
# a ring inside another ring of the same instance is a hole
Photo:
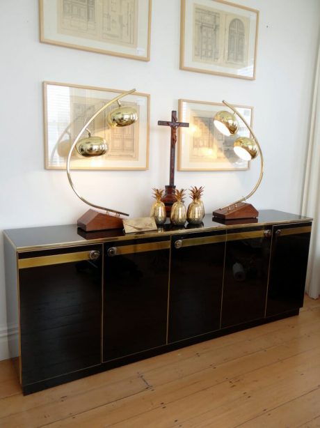
[[[88,126],[95,120],[95,118],[99,114],[104,112],[107,107],[112,105],[113,102],[118,102],[118,107],[116,109],[113,109],[106,116],[106,121],[111,127],[123,127],[135,123],[138,120],[138,114],[136,112],[136,109],[134,109],[133,107],[122,107],[119,102],[120,98],[124,97],[125,95],[129,95],[130,93],[133,93],[135,91],[136,89],[131,89],[130,91],[121,93],[112,100],[106,102],[105,105],[103,105],[99,110],[97,110],[97,112],[95,112],[95,114],[90,117],[86,124],[83,125],[83,128],[81,129],[77,137],[74,139],[74,142],[72,143],[70,151],[67,155],[67,179],[71,185],[72,190],[75,194],[77,194],[77,197],[79,197],[81,201],[85,202],[89,206],[92,206],[93,208],[98,208],[105,212],[99,213],[98,211],[90,209],[85,214],[83,214],[82,217],[80,217],[78,220],[78,226],[85,231],[122,228],[122,218],[120,217],[120,215],[129,214],[122,213],[121,211],[116,211],[111,208],[106,208],[104,206],[99,206],[97,204],[92,204],[87,199],[82,197],[81,194],[79,194],[71,178],[70,163],[72,153],[74,151],[74,148],[76,148],[79,155],[82,155],[86,158],[104,155],[108,151],[108,144],[102,137],[91,135],[90,130],[88,130]],[[80,138],[83,132],[85,131],[88,132],[88,137]],[[114,215],[111,215],[110,213],[113,213]]]

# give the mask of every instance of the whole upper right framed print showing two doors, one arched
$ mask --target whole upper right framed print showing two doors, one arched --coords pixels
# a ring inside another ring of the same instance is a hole
[[[180,68],[255,79],[259,11],[223,0],[181,0]]]

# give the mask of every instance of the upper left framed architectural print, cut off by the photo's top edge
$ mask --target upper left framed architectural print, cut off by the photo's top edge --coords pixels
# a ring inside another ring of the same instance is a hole
[[[39,0],[40,41],[150,61],[152,0]]]

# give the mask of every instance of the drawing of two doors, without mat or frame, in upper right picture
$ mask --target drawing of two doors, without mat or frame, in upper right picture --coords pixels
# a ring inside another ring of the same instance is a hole
[[[249,20],[199,4],[193,10],[193,61],[246,66]]]

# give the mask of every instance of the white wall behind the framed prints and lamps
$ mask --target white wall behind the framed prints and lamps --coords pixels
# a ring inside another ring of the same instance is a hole
[[[230,1],[230,0],[229,0]],[[265,174],[251,202],[298,213],[309,132],[319,0],[237,0],[260,11],[257,79],[179,70],[179,0],[153,0],[150,62],[39,43],[38,1],[0,1],[1,156],[0,229],[76,222],[86,211],[64,171],[45,170],[42,82],[65,82],[151,94],[150,169],[83,171],[100,183],[97,203],[148,215],[151,188],[168,184],[170,131],[159,127],[179,98],[252,105]],[[176,172],[178,188],[205,185],[207,212],[247,194],[250,171]],[[101,190],[102,188],[102,190]],[[115,192],[115,188],[117,191]],[[91,200],[90,199],[90,200]],[[0,359],[6,358],[6,291],[0,240]]]

